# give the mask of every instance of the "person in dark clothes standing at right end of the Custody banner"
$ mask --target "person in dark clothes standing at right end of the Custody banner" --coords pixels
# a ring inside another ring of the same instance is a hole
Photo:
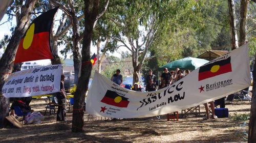
[[[57,121],[66,121],[66,92],[64,88],[65,75],[61,74],[60,77],[60,91],[57,93],[58,99],[58,110],[57,110]]]

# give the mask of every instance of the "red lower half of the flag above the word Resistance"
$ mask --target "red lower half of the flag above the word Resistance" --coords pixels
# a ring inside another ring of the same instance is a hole
[[[203,80],[206,78],[210,78],[210,77],[214,77],[223,73],[227,73],[227,72],[231,72],[232,68],[231,68],[231,64],[226,64],[220,67],[220,69],[217,72],[212,73],[211,71],[205,71],[205,72],[200,72],[198,74],[198,80]]]

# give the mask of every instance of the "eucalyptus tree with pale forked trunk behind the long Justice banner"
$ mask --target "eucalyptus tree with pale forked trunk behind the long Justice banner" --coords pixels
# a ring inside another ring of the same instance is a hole
[[[198,21],[197,14],[201,10],[201,3],[129,0],[110,3],[103,19],[109,19],[107,26],[111,24],[115,27],[112,27],[110,35],[110,39],[115,42],[115,48],[125,47],[132,53],[134,82],[139,79],[148,50],[157,45],[154,43],[161,44],[168,38],[172,39],[173,33],[183,30],[185,25]],[[170,46],[166,50],[172,50]]]

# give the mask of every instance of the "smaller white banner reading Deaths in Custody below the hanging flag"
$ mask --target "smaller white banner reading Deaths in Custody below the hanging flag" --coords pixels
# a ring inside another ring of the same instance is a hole
[[[59,92],[61,65],[41,66],[8,76],[2,89],[5,97],[28,97]]]

